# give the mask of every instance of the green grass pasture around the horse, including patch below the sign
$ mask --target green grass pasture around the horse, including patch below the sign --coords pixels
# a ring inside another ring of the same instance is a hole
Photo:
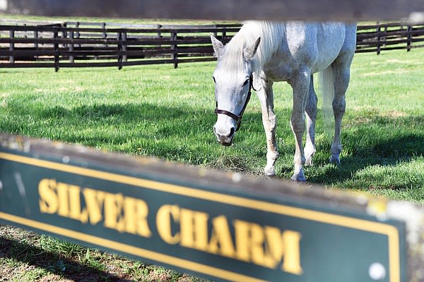
[[[424,202],[423,56],[424,49],[355,56],[342,164],[328,163],[331,140],[319,112],[317,154],[314,166],[305,170],[310,182]],[[235,144],[221,147],[212,131],[214,65],[61,68],[58,73],[1,69],[0,131],[260,176],[266,143],[259,101],[252,97]],[[286,179],[294,154],[291,90],[279,82],[274,93],[281,154],[277,177]],[[0,234],[0,263],[6,269],[0,281],[78,281],[72,271],[95,271],[105,281],[197,279],[18,229],[1,227]]]

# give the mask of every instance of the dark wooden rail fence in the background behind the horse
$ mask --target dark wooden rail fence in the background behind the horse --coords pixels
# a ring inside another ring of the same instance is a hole
[[[0,23],[0,68],[100,67],[213,61],[209,34],[228,42],[240,24]],[[424,47],[424,24],[359,25],[357,52]]]

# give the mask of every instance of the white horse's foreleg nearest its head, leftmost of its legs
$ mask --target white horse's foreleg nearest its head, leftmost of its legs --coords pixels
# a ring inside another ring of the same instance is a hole
[[[276,142],[276,115],[273,111],[273,82],[271,80],[261,80],[262,87],[257,90],[257,96],[261,102],[262,123],[266,135],[266,166],[264,169],[266,176],[275,176],[274,164],[278,159]]]

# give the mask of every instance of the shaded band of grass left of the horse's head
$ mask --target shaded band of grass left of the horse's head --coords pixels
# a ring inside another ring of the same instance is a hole
[[[170,136],[204,135],[207,130],[212,135],[213,109],[158,106],[155,104],[87,104],[68,109],[64,106],[25,109],[13,105],[20,120],[4,124],[4,130],[23,135],[41,132],[52,138],[58,132],[65,142],[96,146],[104,142],[119,144],[131,138],[164,138]],[[25,116],[35,121],[28,125]],[[5,123],[5,122],[4,122]],[[37,127],[37,128],[35,128]],[[61,133],[61,127],[75,128],[73,132]],[[22,133],[23,131],[23,133]],[[87,135],[87,132],[91,134]]]

